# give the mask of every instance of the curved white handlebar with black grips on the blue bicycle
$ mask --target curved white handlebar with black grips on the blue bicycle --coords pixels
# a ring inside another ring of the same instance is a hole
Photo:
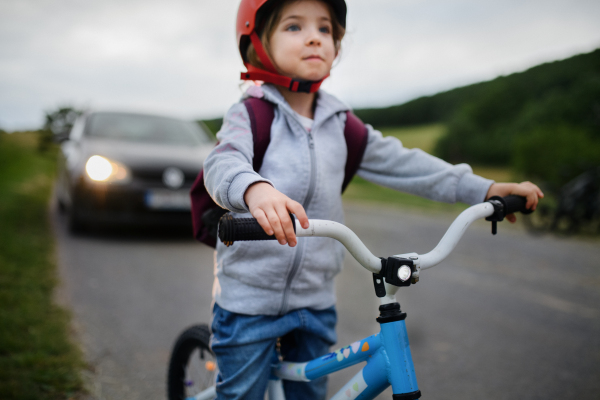
[[[463,211],[452,222],[438,245],[427,254],[402,254],[397,257],[410,257],[416,266],[416,276],[421,269],[431,268],[439,264],[454,250],[467,228],[476,220],[486,218],[495,224],[508,214],[515,212],[531,213],[525,206],[526,199],[520,196],[494,196],[488,201],[476,204]],[[352,256],[367,270],[377,274],[382,263],[379,257],[367,249],[358,236],[350,228],[334,221],[309,219],[309,227],[302,228],[300,222],[291,214],[296,236],[329,237],[341,242]],[[219,239],[227,246],[238,240],[274,240],[275,236],[267,235],[254,218],[233,218],[224,215],[219,221]]]

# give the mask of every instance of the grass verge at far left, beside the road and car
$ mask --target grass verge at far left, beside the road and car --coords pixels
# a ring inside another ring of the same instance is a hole
[[[0,131],[0,399],[83,393],[69,315],[53,303],[53,174],[54,154],[38,151],[37,134]]]

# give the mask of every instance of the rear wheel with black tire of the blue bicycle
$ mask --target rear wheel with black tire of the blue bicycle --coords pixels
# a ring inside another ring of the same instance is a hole
[[[191,326],[177,338],[167,372],[169,400],[192,397],[215,384],[217,362],[209,339],[206,324]]]

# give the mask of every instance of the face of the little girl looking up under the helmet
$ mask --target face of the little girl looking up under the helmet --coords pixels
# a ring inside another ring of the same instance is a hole
[[[270,55],[282,75],[295,79],[323,79],[336,57],[331,16],[317,0],[288,3],[270,39]]]

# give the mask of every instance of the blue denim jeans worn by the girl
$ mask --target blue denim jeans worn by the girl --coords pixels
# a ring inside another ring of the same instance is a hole
[[[262,400],[277,338],[285,361],[310,361],[336,342],[336,321],[335,307],[268,316],[236,314],[215,304],[211,348],[219,365],[217,399]],[[286,400],[319,400],[327,394],[327,377],[283,385]]]

